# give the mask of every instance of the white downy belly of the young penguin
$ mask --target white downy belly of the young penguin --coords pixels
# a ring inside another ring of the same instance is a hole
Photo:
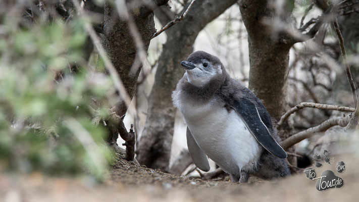
[[[262,148],[236,111],[228,112],[218,102],[187,103],[180,110],[198,146],[224,171],[239,175],[257,167]]]

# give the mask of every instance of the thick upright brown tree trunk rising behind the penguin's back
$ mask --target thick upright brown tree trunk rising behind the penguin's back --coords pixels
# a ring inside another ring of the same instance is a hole
[[[292,44],[283,42],[272,33],[265,20],[275,16],[275,1],[241,1],[240,12],[248,32],[249,89],[264,100],[270,115],[279,120],[288,108],[286,102],[289,49]],[[283,23],[290,23],[290,11],[283,12]],[[283,138],[283,137],[282,137]]]

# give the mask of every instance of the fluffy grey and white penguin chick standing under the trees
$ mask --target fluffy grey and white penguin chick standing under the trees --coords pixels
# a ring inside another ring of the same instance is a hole
[[[196,167],[208,172],[210,158],[239,183],[250,175],[289,176],[287,153],[261,100],[231,78],[216,56],[197,51],[181,65],[186,71],[172,100],[187,124],[187,146]]]

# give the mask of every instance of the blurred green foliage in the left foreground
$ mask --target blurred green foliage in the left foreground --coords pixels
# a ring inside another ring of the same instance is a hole
[[[82,174],[101,179],[111,152],[104,128],[91,124],[89,100],[114,89],[82,59],[86,34],[81,19],[14,26],[0,33],[0,169]],[[79,71],[70,67],[81,64]],[[79,61],[79,62],[78,62]]]

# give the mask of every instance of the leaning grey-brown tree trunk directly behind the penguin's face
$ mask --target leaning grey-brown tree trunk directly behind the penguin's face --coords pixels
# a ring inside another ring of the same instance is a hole
[[[193,52],[193,43],[199,31],[235,2],[197,1],[186,18],[166,30],[167,41],[160,56],[155,83],[149,96],[145,128],[136,151],[136,159],[140,164],[168,171],[176,112],[171,94],[184,74],[180,62]],[[164,21],[166,18],[159,19]]]

